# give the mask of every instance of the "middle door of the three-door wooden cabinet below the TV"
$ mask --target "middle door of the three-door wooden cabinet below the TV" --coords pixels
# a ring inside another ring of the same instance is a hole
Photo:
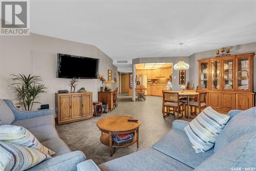
[[[72,119],[82,116],[82,95],[72,95]]]

